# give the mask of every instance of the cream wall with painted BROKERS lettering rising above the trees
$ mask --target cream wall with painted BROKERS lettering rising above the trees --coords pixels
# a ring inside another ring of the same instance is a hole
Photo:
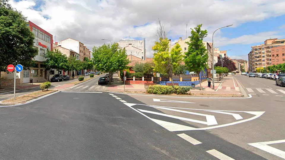
[[[145,38],[143,40],[120,40],[118,44],[119,47],[126,49],[127,55],[133,55],[145,60]]]

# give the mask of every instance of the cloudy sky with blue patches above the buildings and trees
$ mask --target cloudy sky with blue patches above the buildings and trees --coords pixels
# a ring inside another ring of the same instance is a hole
[[[203,24],[205,41],[248,60],[251,46],[285,38],[284,0],[9,0],[28,20],[51,33],[54,41],[76,39],[92,49],[104,43],[145,38],[147,57],[157,40],[159,20],[172,44]],[[186,28],[187,25],[187,28]]]

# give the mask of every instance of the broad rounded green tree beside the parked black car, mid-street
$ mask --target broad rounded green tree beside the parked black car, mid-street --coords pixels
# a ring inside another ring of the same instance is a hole
[[[119,47],[118,43],[94,47],[92,55],[94,67],[100,71],[109,72],[110,82],[112,81],[112,73],[127,68],[129,64],[126,50]]]

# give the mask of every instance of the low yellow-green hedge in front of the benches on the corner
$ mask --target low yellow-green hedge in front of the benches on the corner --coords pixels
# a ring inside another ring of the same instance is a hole
[[[188,91],[192,89],[190,86],[174,86],[176,94],[186,94]],[[148,93],[157,94],[157,95],[170,95],[175,93],[172,86],[164,86],[164,85],[153,85],[149,86]]]

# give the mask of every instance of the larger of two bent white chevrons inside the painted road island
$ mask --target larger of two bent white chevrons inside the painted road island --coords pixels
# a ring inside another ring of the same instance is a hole
[[[159,108],[159,107],[156,107]],[[195,113],[195,112],[188,112],[188,111],[181,111],[181,110],[176,110],[176,109],[170,109],[170,108],[162,108],[161,109],[166,109],[166,110],[170,110],[170,111],[178,111],[178,112],[183,112],[183,113],[188,113],[188,114],[194,114],[194,115],[199,115],[199,116],[205,116],[206,117],[206,121],[200,121],[200,120],[195,120],[195,119],[189,119],[189,118],[184,118],[184,117],[179,117],[179,116],[172,116],[169,114],[164,114],[164,113],[158,113],[158,112],[153,112],[153,111],[147,111],[147,110],[143,110],[143,109],[138,109],[141,112],[145,112],[145,113],[151,113],[151,114],[156,114],[156,115],[160,115],[160,116],[165,116],[165,117],[170,117],[170,118],[175,118],[175,119],[180,119],[180,120],[184,120],[184,121],[190,121],[190,122],[195,122],[195,123],[201,123],[201,124],[207,124],[209,125],[215,125],[218,124],[215,116],[212,115],[207,115],[207,114],[201,114],[201,113]]]

